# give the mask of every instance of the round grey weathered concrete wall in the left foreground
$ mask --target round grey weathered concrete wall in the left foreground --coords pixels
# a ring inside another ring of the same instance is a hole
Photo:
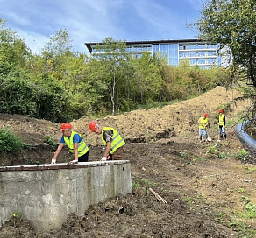
[[[126,160],[0,167],[0,222],[21,213],[36,231],[60,228],[68,214],[131,192]]]

